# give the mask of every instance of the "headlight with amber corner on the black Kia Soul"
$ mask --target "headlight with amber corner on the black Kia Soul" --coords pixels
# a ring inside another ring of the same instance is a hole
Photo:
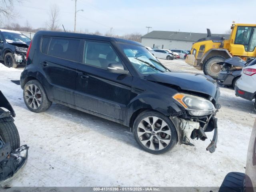
[[[176,101],[178,101],[186,110],[188,110],[190,115],[193,116],[204,116],[211,114],[215,107],[212,102],[198,96],[177,93],[172,96]]]

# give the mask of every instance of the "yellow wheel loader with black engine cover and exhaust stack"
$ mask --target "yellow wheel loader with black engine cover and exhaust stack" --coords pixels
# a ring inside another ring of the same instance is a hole
[[[218,78],[223,62],[227,58],[238,56],[243,60],[256,57],[256,24],[232,24],[230,39],[212,36],[207,29],[207,37],[195,42],[186,63],[212,78]]]

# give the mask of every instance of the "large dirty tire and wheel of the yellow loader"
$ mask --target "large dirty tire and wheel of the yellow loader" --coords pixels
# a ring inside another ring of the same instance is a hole
[[[218,78],[221,71],[221,65],[218,62],[223,62],[226,58],[222,56],[209,57],[203,64],[203,71],[205,75],[211,76],[214,79]]]

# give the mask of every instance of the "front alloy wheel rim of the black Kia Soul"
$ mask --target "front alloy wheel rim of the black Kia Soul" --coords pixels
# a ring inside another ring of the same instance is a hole
[[[171,130],[168,124],[156,116],[141,120],[137,128],[140,142],[151,150],[162,150],[171,142]]]

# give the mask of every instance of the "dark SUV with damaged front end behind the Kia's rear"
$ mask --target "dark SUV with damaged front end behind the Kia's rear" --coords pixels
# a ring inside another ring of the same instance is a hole
[[[26,64],[30,38],[18,31],[0,29],[0,60],[7,67]]]

